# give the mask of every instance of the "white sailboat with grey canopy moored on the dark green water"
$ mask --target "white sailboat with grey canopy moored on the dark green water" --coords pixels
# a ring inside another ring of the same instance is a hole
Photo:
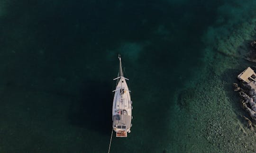
[[[127,137],[132,127],[132,101],[126,83],[129,79],[124,77],[121,56],[119,55],[118,58],[119,73],[118,77],[113,79],[117,80],[116,90],[113,91],[115,92],[112,109],[113,130],[116,132],[116,137]]]

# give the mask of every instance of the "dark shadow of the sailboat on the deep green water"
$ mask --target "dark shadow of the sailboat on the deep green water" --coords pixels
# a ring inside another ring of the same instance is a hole
[[[109,135],[113,102],[110,83],[88,80],[80,89],[78,100],[70,105],[70,124]]]

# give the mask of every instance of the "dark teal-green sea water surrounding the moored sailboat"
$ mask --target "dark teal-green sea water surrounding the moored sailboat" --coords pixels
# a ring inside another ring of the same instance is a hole
[[[119,53],[134,119],[111,152],[232,152],[223,148],[240,133],[226,123],[236,127],[243,111],[229,85],[251,64],[242,53],[255,38],[255,6],[0,0],[0,152],[107,152]],[[217,122],[224,136],[210,133]]]

